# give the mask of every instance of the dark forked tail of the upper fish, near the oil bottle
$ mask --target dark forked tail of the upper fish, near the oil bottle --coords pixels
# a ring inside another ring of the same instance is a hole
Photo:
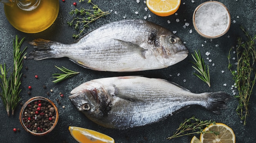
[[[33,45],[36,50],[29,53],[28,59],[43,60],[45,58],[60,58],[54,51],[57,50],[59,45],[62,45],[61,43],[45,39],[35,39],[29,42],[29,44]]]

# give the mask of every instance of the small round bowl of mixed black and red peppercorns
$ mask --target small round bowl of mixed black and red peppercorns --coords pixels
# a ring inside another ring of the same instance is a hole
[[[51,132],[58,122],[58,108],[49,99],[34,97],[29,99],[20,110],[20,124],[35,136]]]

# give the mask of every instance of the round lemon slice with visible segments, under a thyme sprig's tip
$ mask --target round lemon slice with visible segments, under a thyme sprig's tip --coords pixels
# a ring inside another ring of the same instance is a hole
[[[204,133],[200,134],[202,143],[236,143],[236,136],[231,128],[222,123],[211,124],[204,128],[203,131],[215,131],[220,134]]]

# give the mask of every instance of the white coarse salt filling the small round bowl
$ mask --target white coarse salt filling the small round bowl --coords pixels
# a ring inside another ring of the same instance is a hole
[[[211,3],[211,4],[210,4]],[[210,2],[202,5],[195,13],[195,25],[204,35],[216,36],[228,26],[227,11],[223,6]]]

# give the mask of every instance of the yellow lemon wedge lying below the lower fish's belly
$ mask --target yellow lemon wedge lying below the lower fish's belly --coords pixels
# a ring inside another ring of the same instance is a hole
[[[79,143],[115,143],[112,137],[94,130],[74,126],[70,126],[68,129],[72,137]]]

